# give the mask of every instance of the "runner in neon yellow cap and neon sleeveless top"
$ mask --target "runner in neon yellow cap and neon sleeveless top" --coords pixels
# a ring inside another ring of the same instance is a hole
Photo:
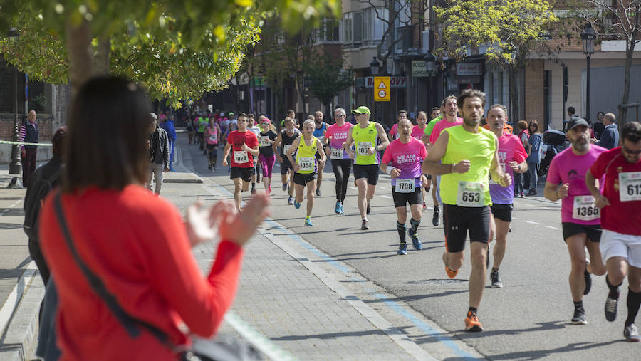
[[[360,106],[352,110],[358,122],[352,131],[348,133],[343,148],[348,152],[350,158],[354,159],[354,178],[358,187],[358,210],[363,221],[360,229],[370,229],[368,214],[372,210],[370,202],[374,198],[376,182],[378,181],[378,164],[380,158],[378,152],[387,148],[390,141],[387,140],[385,130],[377,122],[370,122],[370,108]],[[377,140],[380,144],[376,145]],[[356,145],[356,152],[352,152],[352,145]]]

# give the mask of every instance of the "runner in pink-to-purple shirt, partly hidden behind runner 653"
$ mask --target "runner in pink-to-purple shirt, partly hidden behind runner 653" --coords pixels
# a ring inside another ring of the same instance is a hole
[[[528,157],[521,140],[516,135],[506,132],[504,129],[507,121],[507,109],[505,105],[495,104],[487,110],[487,120],[489,129],[499,139],[499,166],[503,172],[507,172],[514,180],[514,173],[523,173],[528,170]],[[514,183],[514,182],[512,182]],[[499,277],[499,267],[505,256],[507,243],[507,234],[510,230],[512,221],[512,209],[514,209],[514,189],[513,187],[501,187],[490,179],[490,196],[492,198],[492,219],[494,227],[490,228],[490,240],[496,236],[494,244],[494,266],[490,272],[490,281],[493,288],[503,287],[501,277]],[[489,245],[488,245],[489,251]]]

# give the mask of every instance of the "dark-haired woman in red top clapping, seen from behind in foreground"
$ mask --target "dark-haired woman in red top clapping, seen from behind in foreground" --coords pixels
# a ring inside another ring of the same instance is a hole
[[[212,337],[234,299],[242,247],[267,214],[266,197],[256,196],[242,215],[219,202],[189,206],[183,221],[175,206],[140,187],[150,110],[141,88],[112,77],[89,80],[71,105],[62,189],[47,197],[41,214],[43,252],[59,296],[61,360],[125,360],[132,350],[137,358],[177,360],[189,346],[184,326]],[[192,247],[217,235],[214,266],[203,277]],[[102,286],[90,283],[88,272]],[[97,288],[157,333],[137,328],[132,337]]]

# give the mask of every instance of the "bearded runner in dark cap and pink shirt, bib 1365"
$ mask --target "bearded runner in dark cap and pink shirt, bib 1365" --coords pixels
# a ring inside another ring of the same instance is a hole
[[[585,177],[595,160],[605,152],[605,148],[590,144],[590,127],[580,117],[573,117],[566,126],[566,137],[572,147],[560,152],[552,159],[545,197],[553,202],[561,199],[561,225],[563,239],[570,253],[570,293],[574,302],[574,315],[571,322],[585,325],[583,295],[592,287],[590,273],[601,276],[605,266],[599,251],[601,221],[595,198],[585,186]],[[561,184],[561,185],[559,185]],[[600,179],[603,184],[603,178]],[[590,253],[590,263],[585,261],[585,248]]]

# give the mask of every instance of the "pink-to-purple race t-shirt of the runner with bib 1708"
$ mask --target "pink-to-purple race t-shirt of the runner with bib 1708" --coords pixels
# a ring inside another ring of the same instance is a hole
[[[394,140],[385,148],[382,162],[395,167],[400,176],[392,178],[392,186],[396,186],[397,179],[414,179],[415,187],[421,187],[421,162],[427,157],[425,145],[420,140],[410,137],[410,142],[403,143],[400,139]]]

